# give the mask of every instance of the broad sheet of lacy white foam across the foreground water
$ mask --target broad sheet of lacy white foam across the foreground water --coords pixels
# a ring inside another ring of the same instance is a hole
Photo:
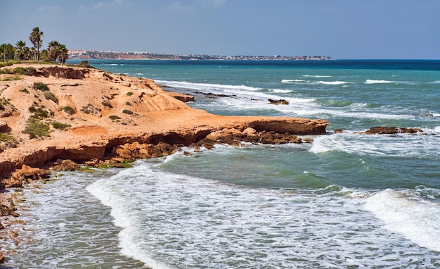
[[[402,244],[360,207],[365,194],[328,188],[316,195],[240,187],[167,173],[145,161],[88,187],[111,206],[115,223],[124,223],[124,254],[153,268],[374,267],[413,258],[396,260],[399,250],[420,255],[418,246]]]

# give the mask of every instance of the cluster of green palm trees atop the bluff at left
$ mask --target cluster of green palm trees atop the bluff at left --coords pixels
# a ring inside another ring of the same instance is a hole
[[[48,43],[47,49],[40,51],[43,44],[43,32],[39,30],[39,27],[34,27],[30,33],[29,40],[33,47],[26,46],[26,42],[19,40],[12,44],[0,45],[0,59],[3,61],[18,59],[22,60],[35,60],[35,61],[52,61],[58,63],[65,63],[69,58],[67,52],[69,51],[64,44],[60,44],[58,41],[51,41]],[[0,61],[1,61],[0,60]]]

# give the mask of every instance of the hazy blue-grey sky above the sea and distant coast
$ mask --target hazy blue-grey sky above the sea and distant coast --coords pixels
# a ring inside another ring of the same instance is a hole
[[[440,59],[440,0],[0,0],[0,44],[67,49]]]

